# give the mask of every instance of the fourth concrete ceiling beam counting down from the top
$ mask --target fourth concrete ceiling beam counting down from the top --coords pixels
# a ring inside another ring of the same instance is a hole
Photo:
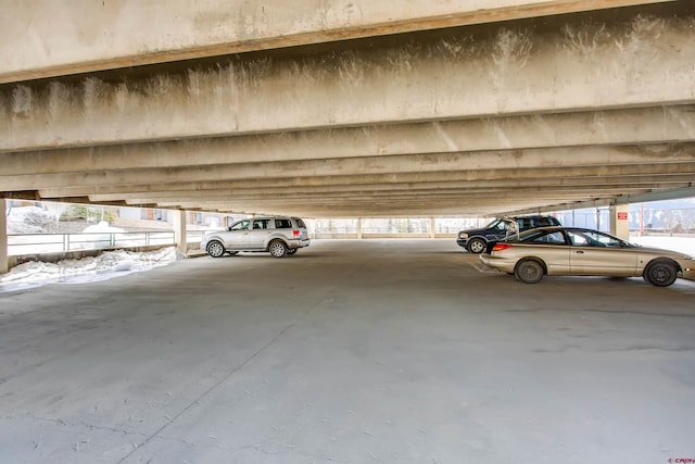
[[[444,153],[427,155],[393,155],[352,158],[344,160],[305,160],[276,163],[240,163],[198,167],[176,167],[161,171],[122,170],[99,173],[62,173],[46,175],[0,175],[4,190],[30,190],[71,185],[131,185],[175,181],[204,181],[244,178],[285,178],[341,176],[393,173],[427,173],[441,171],[479,171],[485,168],[535,168],[538,166],[571,168],[577,166],[609,166],[650,163],[695,162],[693,143],[636,147],[557,148],[523,151]],[[648,167],[643,172],[650,173]],[[557,174],[557,173],[556,173]]]

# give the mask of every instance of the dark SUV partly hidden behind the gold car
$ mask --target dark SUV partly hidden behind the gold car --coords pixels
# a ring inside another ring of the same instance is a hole
[[[513,216],[498,217],[481,229],[468,229],[458,233],[456,243],[471,253],[482,253],[488,248],[488,242],[504,240],[518,231],[533,229],[535,227],[561,225],[553,216]]]

